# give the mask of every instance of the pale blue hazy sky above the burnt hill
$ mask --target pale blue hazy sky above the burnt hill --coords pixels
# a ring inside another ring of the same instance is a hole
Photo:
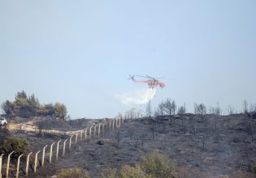
[[[115,117],[132,108],[115,95],[145,88],[128,74],[166,77],[153,106],[256,103],[256,1],[0,0],[1,103],[24,90]]]

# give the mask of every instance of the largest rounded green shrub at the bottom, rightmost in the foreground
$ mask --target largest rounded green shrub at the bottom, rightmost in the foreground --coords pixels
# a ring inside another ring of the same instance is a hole
[[[152,177],[171,178],[176,173],[176,164],[159,153],[142,156],[138,165],[143,172]]]

